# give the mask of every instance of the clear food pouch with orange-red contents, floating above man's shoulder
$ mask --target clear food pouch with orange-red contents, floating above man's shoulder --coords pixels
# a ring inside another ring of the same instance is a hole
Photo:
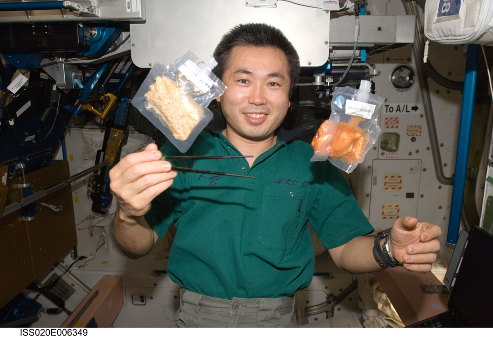
[[[380,134],[378,110],[384,98],[371,94],[371,82],[361,81],[360,88],[337,87],[332,97],[332,113],[313,138],[315,155],[311,161],[329,160],[351,173],[364,160],[366,152]]]

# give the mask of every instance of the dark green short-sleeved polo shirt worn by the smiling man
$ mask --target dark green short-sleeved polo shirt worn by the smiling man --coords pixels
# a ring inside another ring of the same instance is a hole
[[[161,151],[184,155],[170,142]],[[185,154],[242,155],[210,131]],[[176,221],[171,279],[221,299],[290,296],[312,281],[308,221],[326,249],[373,231],[339,170],[328,161],[311,162],[312,156],[307,143],[278,140],[252,167],[245,158],[173,162],[255,179],[178,172],[154,199],[145,219],[160,238]]]

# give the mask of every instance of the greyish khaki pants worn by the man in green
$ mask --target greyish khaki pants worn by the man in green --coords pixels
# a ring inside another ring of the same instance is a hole
[[[170,328],[291,328],[294,296],[216,299],[181,288],[177,320]]]

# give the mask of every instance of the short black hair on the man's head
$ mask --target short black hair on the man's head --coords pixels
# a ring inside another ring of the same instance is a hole
[[[290,75],[289,95],[300,76],[300,58],[296,49],[282,32],[264,23],[248,23],[235,26],[224,35],[214,50],[213,56],[217,66],[213,72],[222,79],[228,66],[231,50],[235,46],[272,47],[281,49],[287,58]]]

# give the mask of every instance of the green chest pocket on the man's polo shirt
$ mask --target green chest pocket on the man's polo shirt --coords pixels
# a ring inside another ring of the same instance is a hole
[[[267,249],[291,249],[306,223],[310,193],[293,187],[267,186],[262,202],[258,241]]]

